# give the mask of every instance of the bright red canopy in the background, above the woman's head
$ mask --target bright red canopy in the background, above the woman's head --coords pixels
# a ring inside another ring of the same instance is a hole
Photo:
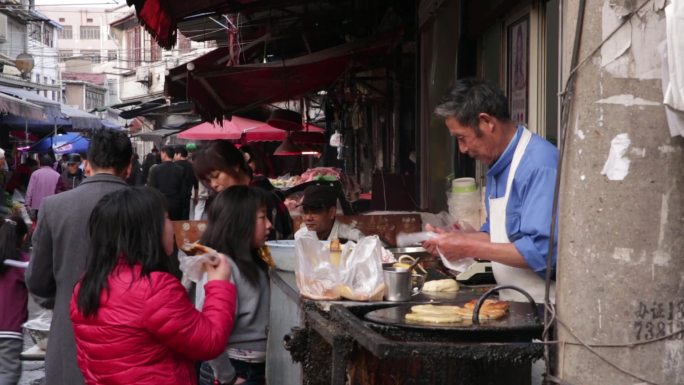
[[[291,139],[301,143],[325,143],[325,130],[306,124],[303,131],[292,133]],[[285,140],[288,132],[275,128],[264,122],[233,116],[224,119],[223,124],[205,122],[178,134],[181,139],[192,140],[231,140],[241,143],[280,142]]]

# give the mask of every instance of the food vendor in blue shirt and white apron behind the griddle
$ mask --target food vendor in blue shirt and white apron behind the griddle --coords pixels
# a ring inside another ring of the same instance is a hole
[[[558,149],[512,121],[503,92],[480,80],[457,81],[435,114],[461,153],[489,166],[487,220],[479,232],[444,233],[425,248],[450,260],[490,260],[498,284],[521,287],[543,302]],[[556,242],[553,250],[555,270]],[[524,300],[510,290],[500,297]]]

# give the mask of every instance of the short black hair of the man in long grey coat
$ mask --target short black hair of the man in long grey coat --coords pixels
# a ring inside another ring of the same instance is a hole
[[[87,159],[94,168],[113,168],[121,172],[131,163],[133,145],[126,134],[114,130],[97,130],[90,139]]]

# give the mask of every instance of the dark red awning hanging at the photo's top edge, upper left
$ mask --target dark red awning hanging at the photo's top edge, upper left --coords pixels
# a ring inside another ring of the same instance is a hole
[[[176,44],[178,22],[188,16],[200,14],[228,13],[240,6],[259,0],[126,0],[128,6],[135,6],[138,16],[147,32],[159,46],[171,49]]]

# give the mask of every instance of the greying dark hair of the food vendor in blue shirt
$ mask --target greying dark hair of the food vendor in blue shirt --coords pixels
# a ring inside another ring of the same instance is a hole
[[[480,113],[489,114],[504,122],[511,120],[503,91],[475,78],[457,80],[435,108],[435,115],[445,119],[453,117],[459,124],[475,129],[478,134]]]

